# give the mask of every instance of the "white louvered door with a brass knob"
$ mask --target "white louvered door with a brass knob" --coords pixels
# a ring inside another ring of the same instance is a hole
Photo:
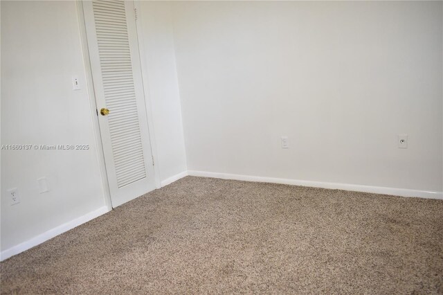
[[[133,1],[84,1],[112,206],[155,188]],[[108,115],[100,109],[109,109]]]

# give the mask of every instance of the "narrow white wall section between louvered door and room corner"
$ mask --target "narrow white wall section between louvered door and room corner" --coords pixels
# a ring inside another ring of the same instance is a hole
[[[148,82],[146,92],[152,105],[157,167],[161,181],[165,181],[187,170],[171,9],[169,2],[141,1],[140,10],[143,79]]]

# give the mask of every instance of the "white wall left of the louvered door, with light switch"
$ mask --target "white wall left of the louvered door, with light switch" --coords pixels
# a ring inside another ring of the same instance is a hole
[[[1,150],[1,251],[105,206],[92,116],[75,2],[1,1],[1,144],[90,146]]]

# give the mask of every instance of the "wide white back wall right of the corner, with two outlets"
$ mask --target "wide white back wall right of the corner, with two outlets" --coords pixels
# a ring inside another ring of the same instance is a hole
[[[189,170],[442,191],[442,2],[179,1],[173,19]]]

